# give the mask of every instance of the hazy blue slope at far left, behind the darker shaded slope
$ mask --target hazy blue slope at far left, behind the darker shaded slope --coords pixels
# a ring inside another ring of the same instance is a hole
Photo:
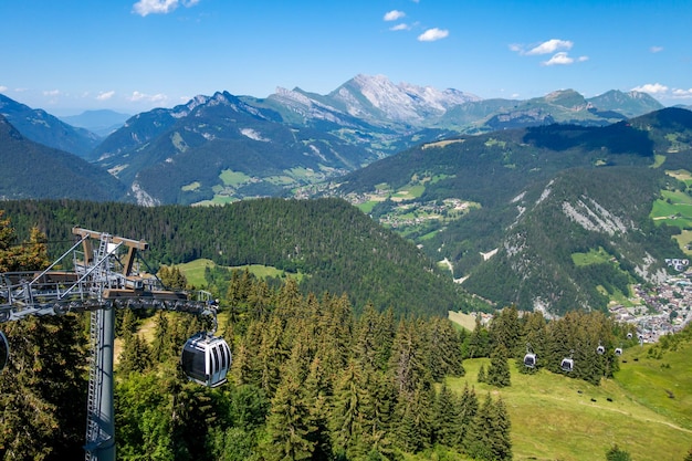
[[[3,115],[24,137],[85,158],[98,145],[94,133],[75,128],[42,109],[10,99],[0,94],[0,115]]]

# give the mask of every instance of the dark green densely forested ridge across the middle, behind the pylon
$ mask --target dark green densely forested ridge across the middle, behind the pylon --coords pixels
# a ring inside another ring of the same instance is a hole
[[[356,311],[371,301],[398,315],[445,316],[471,305],[471,297],[411,242],[340,199],[258,199],[210,208],[67,200],[2,207],[20,237],[38,226],[49,240],[69,242],[72,227],[80,226],[147,241],[151,262],[207,258],[221,265],[271,265],[305,274],[305,292],[348,293]]]

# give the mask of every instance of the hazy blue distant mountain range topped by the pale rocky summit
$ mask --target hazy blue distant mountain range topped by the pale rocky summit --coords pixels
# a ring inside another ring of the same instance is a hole
[[[459,134],[551,123],[604,126],[662,108],[637,92],[585,98],[565,90],[527,101],[482,99],[357,75],[327,95],[297,87],[277,88],[266,98],[200,95],[137,114],[102,139],[84,128],[67,129],[43,111],[0,101],[0,113],[23,136],[95,163],[125,184],[130,200],[145,205],[285,196]],[[65,119],[96,129],[117,126],[122,117],[93,112]]]

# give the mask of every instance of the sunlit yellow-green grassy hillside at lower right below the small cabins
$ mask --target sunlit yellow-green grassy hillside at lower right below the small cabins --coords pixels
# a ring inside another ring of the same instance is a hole
[[[515,460],[605,460],[616,443],[632,460],[682,460],[692,447],[692,344],[660,359],[648,356],[650,347],[626,350],[615,379],[600,386],[545,370],[521,374],[512,363],[512,386],[499,390],[476,381],[489,365],[483,358],[465,360],[465,377],[448,383],[504,399]]]

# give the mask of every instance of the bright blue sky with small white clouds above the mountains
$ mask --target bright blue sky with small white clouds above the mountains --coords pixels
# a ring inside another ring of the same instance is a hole
[[[0,93],[55,115],[357,74],[483,98],[574,88],[692,104],[692,2],[1,0]]]

